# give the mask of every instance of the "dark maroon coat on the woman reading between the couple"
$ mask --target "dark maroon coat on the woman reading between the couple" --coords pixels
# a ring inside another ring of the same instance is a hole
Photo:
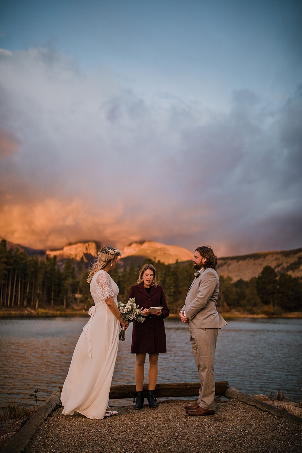
[[[132,330],[132,354],[157,354],[167,352],[166,333],[163,319],[169,316],[169,308],[162,286],[152,286],[150,295],[144,285],[139,283],[131,286],[129,299],[135,297],[135,304],[144,310],[150,307],[163,307],[162,314],[149,314],[144,323],[134,321]]]

